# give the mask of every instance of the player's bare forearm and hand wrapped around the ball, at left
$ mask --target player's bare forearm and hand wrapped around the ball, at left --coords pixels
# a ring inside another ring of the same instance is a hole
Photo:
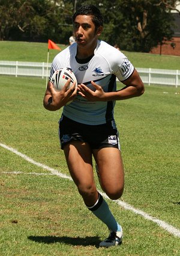
[[[64,88],[60,92],[56,92],[53,88],[53,84],[48,82],[43,100],[44,108],[50,111],[55,111],[63,107],[67,102],[72,101],[76,97],[77,87],[75,87],[74,83],[70,89],[67,89],[69,85],[70,79],[68,79]]]

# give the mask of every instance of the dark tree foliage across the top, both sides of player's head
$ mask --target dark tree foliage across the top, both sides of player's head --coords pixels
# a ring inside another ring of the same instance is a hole
[[[68,43],[80,0],[0,0],[0,40]],[[101,39],[127,51],[149,52],[172,37],[175,0],[92,0],[104,16]]]

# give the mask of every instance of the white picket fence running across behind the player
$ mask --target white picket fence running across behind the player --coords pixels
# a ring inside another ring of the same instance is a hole
[[[0,75],[40,76],[47,78],[50,72],[50,63],[25,61],[0,61]],[[180,86],[180,70],[146,69],[137,67],[143,83]]]

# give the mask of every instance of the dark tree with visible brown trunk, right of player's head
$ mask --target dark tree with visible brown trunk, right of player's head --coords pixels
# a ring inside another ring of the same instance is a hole
[[[167,1],[124,0],[123,2],[124,15],[128,10],[130,11],[130,24],[124,27],[124,33],[131,38],[128,50],[149,52],[164,39],[172,37],[173,16]],[[173,3],[173,1],[170,2]],[[127,43],[126,41],[122,47],[125,47]]]

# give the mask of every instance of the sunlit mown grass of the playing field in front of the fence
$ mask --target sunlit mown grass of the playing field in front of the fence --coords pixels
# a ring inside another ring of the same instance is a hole
[[[69,175],[58,141],[61,110],[43,108],[45,81],[13,76],[1,81],[0,143]],[[179,89],[145,89],[139,98],[116,102],[125,166],[122,200],[180,229]],[[2,147],[0,155],[1,256],[179,255],[178,237],[109,200],[124,242],[97,248],[106,226],[86,209],[72,181],[33,175],[50,172]],[[4,173],[15,171],[22,173]]]

